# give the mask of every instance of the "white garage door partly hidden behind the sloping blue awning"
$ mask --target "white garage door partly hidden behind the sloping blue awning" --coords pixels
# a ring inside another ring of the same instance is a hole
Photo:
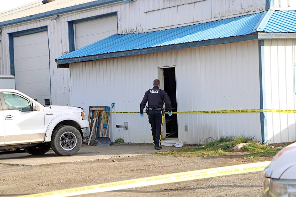
[[[117,16],[74,24],[75,50],[117,33]]]

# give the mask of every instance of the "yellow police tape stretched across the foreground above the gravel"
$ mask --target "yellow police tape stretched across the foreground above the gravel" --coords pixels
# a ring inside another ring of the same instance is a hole
[[[235,175],[235,174],[242,174],[242,173],[248,173],[248,172],[263,171],[264,168],[269,165],[269,163],[270,161],[266,161],[266,162],[258,162],[258,163],[241,164],[241,165],[235,165],[235,166],[209,168],[204,170],[179,172],[179,173],[173,173],[168,175],[150,176],[150,177],[139,178],[139,179],[117,181],[113,183],[103,183],[103,184],[91,185],[86,187],[76,187],[72,189],[57,190],[57,191],[32,194],[32,195],[24,195],[23,197],[74,196],[74,195],[90,194],[90,193],[97,193],[97,192],[104,192],[104,191],[121,190],[121,189],[133,188],[133,187],[143,187],[143,186],[158,185],[158,184],[164,184],[164,183],[190,181],[195,179],[204,179],[204,178],[211,178],[211,177],[217,177],[217,176]]]

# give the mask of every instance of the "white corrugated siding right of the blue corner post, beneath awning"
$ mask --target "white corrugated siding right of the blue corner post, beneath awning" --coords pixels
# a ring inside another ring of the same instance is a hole
[[[294,92],[295,39],[264,40],[265,100],[267,109],[296,109]],[[265,113],[268,143],[296,139],[296,115]]]

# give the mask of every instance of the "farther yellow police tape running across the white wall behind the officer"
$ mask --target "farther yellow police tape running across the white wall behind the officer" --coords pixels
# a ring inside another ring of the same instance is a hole
[[[106,113],[139,113],[125,111],[105,111]],[[296,113],[296,110],[272,110],[272,109],[246,109],[246,110],[214,110],[214,111],[173,111],[173,114],[221,114],[221,113],[258,113],[258,112],[275,112],[275,113]],[[167,113],[167,112],[166,112]]]

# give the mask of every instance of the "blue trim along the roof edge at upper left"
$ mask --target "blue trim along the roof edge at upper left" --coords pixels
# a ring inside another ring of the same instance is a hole
[[[57,10],[52,10],[52,11],[40,13],[40,14],[35,14],[33,16],[26,16],[26,17],[22,17],[22,18],[16,18],[13,20],[9,20],[9,21],[3,21],[3,22],[0,22],[0,27],[6,26],[6,25],[13,25],[16,23],[21,23],[21,22],[32,21],[32,20],[36,20],[36,19],[40,19],[40,18],[51,17],[54,14],[59,15],[59,14],[67,13],[67,12],[73,12],[73,11],[77,11],[77,10],[87,9],[87,8],[101,6],[101,5],[119,2],[119,1],[123,1],[123,0],[98,0],[98,1],[93,1],[93,2],[83,3],[80,5],[76,5],[76,6],[71,6],[71,7],[67,7],[67,8],[61,8],[61,9],[57,9]]]

